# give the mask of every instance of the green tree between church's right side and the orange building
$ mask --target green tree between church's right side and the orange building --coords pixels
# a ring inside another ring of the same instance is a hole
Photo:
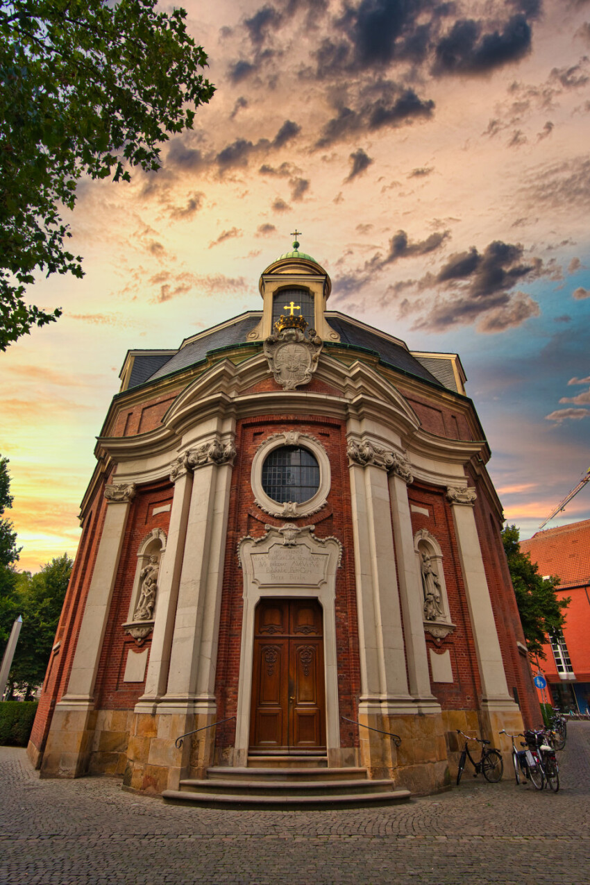
[[[539,574],[539,566],[531,562],[528,553],[521,552],[518,536],[516,526],[507,526],[502,531],[526,646],[532,654],[545,658],[543,644],[548,642],[549,634],[563,627],[570,598],[557,598],[559,578],[544,579]]]

